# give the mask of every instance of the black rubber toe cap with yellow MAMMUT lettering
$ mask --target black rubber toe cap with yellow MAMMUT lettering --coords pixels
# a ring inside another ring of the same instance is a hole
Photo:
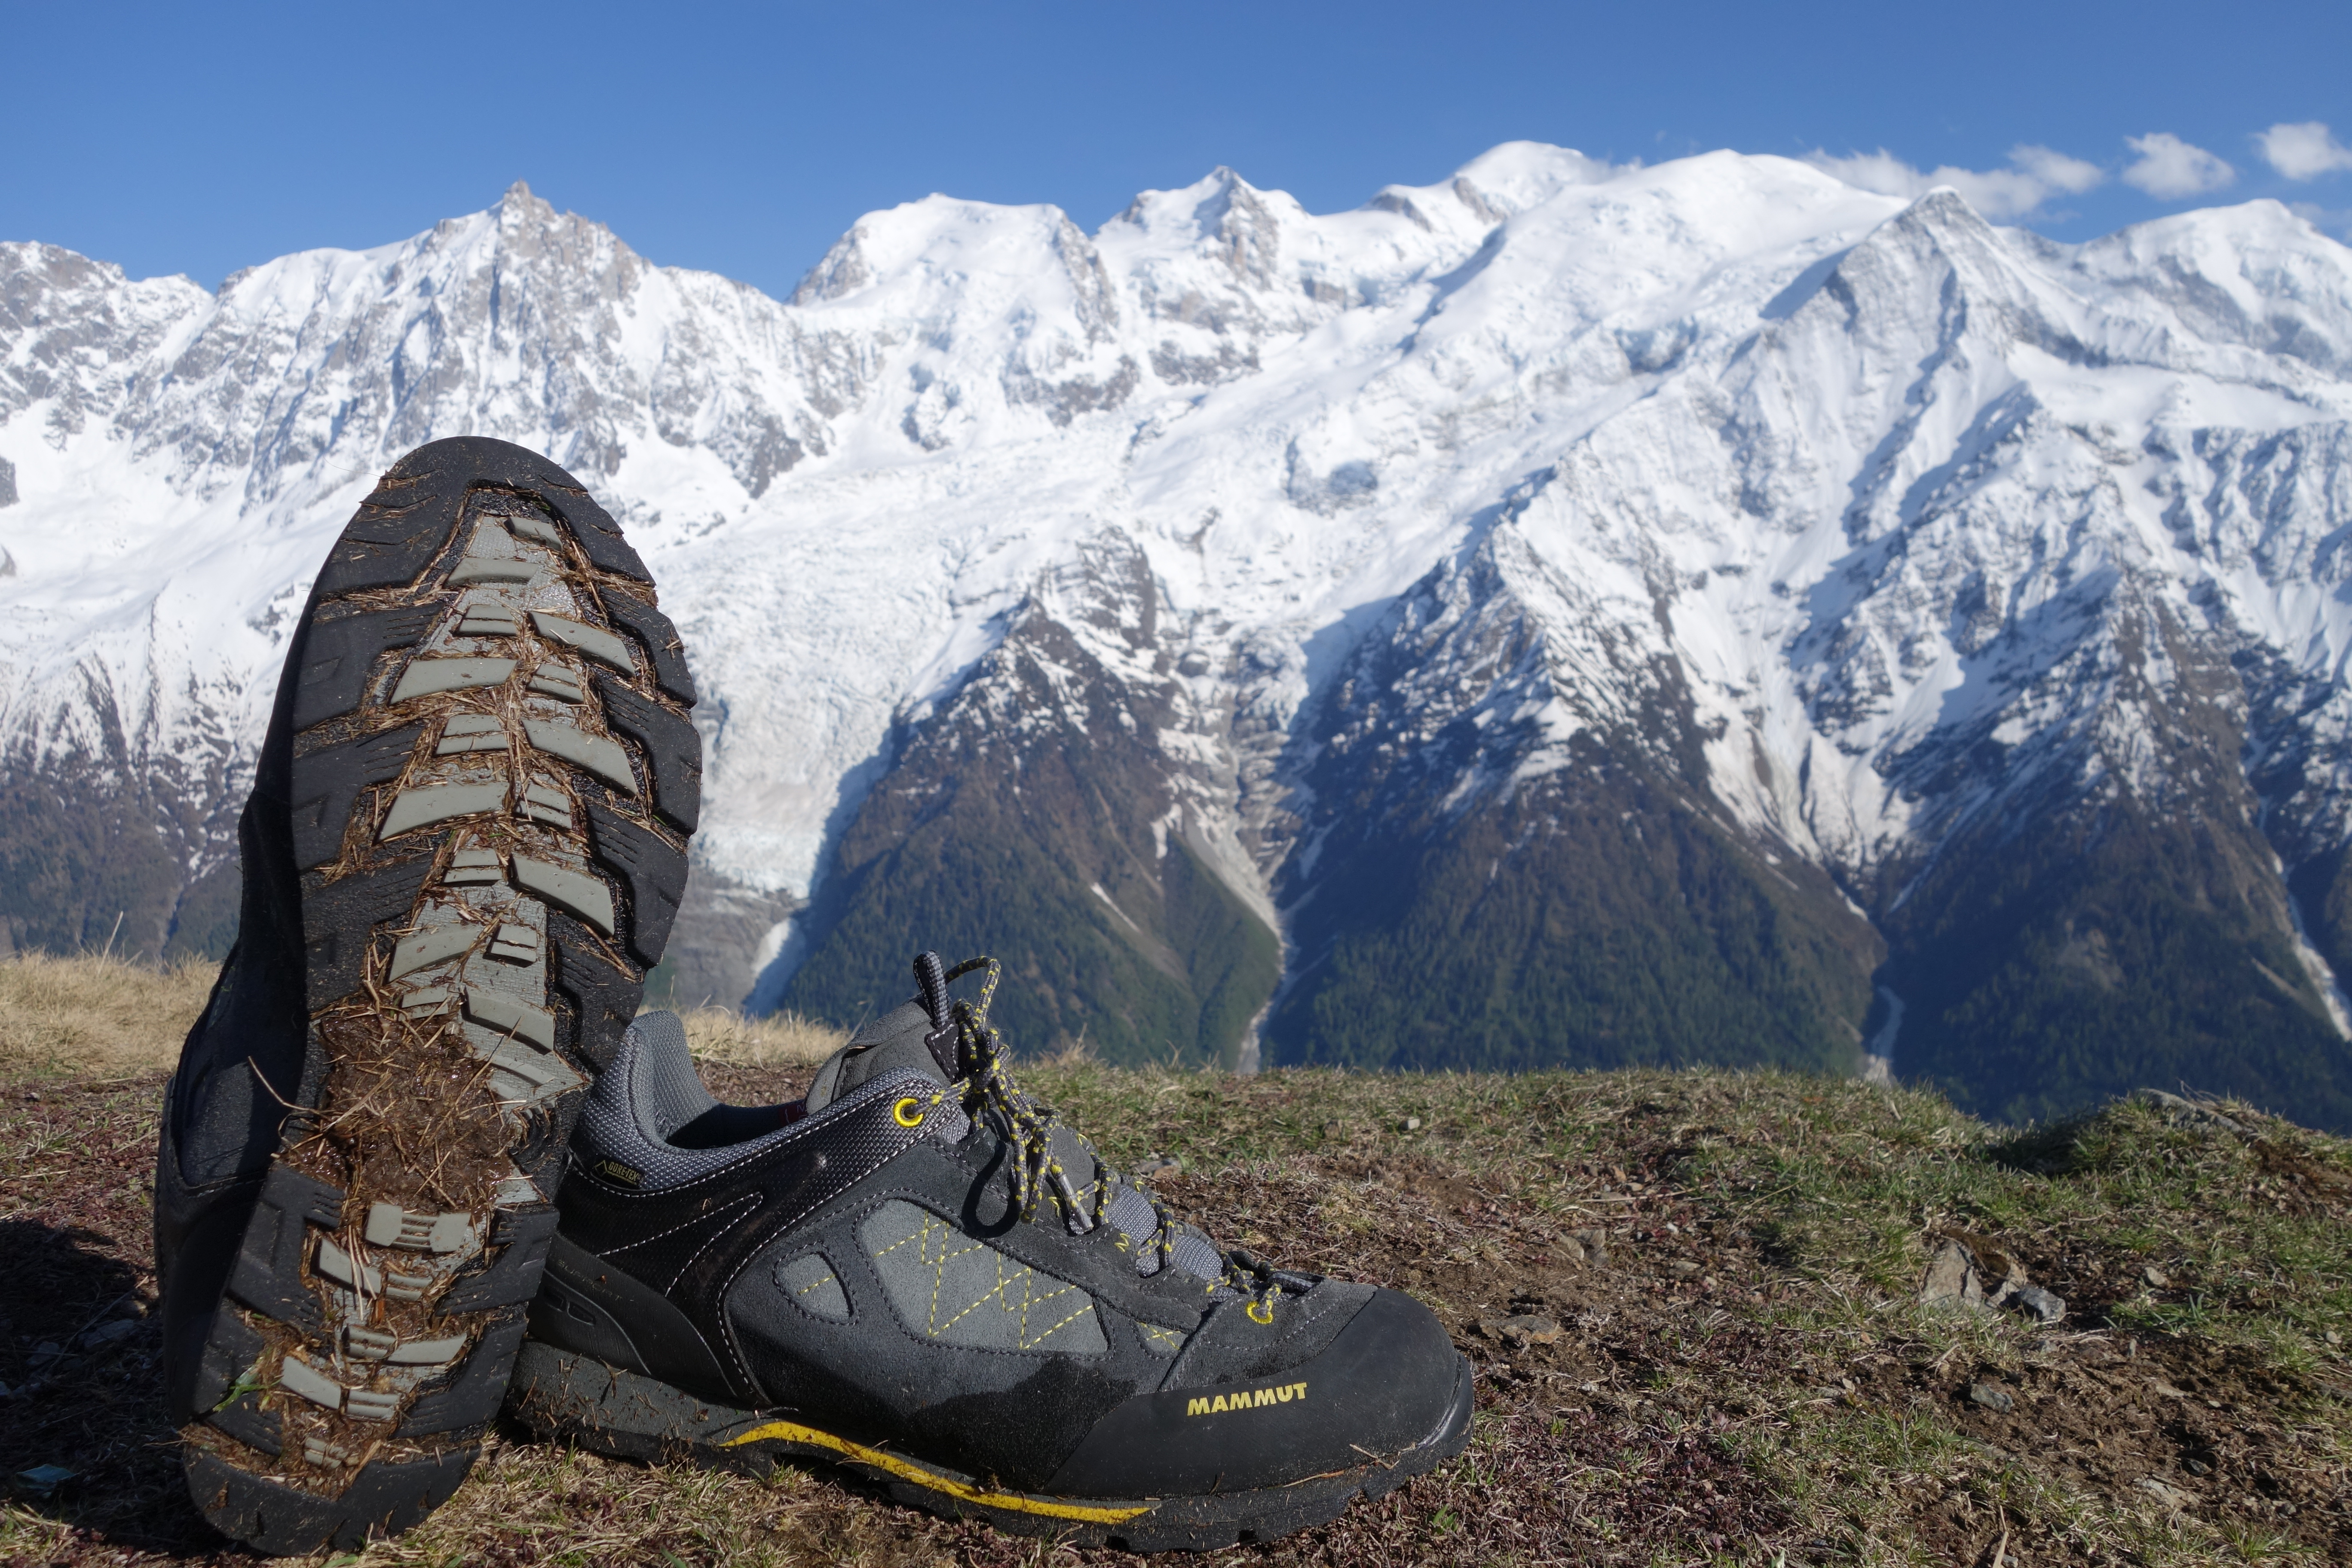
[[[1176,1497],[1355,1469],[1435,1436],[1456,1406],[1461,1366],[1428,1307],[1378,1291],[1319,1354],[1270,1378],[1120,1403],[1044,1490]]]

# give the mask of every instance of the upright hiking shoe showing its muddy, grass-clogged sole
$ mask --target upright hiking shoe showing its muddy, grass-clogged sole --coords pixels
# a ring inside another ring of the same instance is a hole
[[[419,447],[327,555],[155,1168],[167,1399],[223,1533],[360,1547],[470,1469],[684,891],[691,703],[637,552],[522,447]]]

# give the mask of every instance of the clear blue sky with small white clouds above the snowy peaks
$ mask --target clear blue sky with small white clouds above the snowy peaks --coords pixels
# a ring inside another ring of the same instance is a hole
[[[1947,169],[2060,240],[2260,195],[2352,230],[2343,0],[7,0],[0,24],[0,240],[207,287],[515,179],[654,261],[781,294],[858,214],[931,190],[1094,228],[1232,165],[1331,212],[1512,139],[1858,155],[1842,167],[1879,188]]]

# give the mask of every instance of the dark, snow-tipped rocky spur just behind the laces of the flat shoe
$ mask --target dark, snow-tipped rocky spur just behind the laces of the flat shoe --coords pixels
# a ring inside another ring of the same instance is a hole
[[[1089,541],[906,726],[840,839],[786,1006],[882,1011],[908,985],[906,931],[978,931],[1007,954],[993,1016],[1014,1039],[1237,1065],[1279,950],[1216,851],[1188,844],[1174,665],[1143,552]]]

